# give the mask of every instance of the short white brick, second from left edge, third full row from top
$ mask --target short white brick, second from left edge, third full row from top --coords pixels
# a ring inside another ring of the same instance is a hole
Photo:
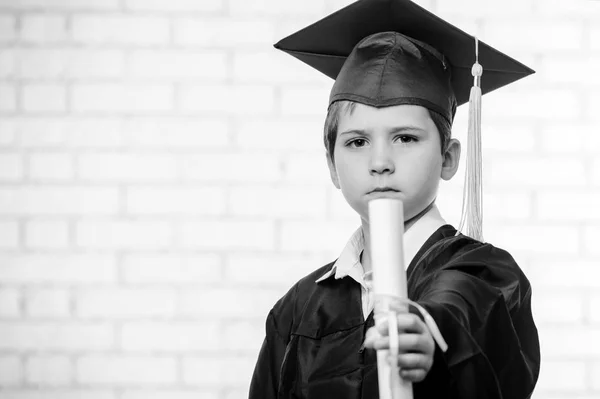
[[[25,112],[61,112],[67,109],[67,89],[62,84],[30,83],[22,88]]]

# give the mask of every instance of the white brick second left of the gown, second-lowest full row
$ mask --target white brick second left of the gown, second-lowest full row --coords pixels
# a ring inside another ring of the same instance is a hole
[[[122,327],[120,347],[128,352],[190,354],[215,350],[220,341],[220,328],[216,322],[128,322]]]

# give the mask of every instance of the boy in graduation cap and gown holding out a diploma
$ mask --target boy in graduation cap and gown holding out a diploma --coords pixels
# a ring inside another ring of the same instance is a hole
[[[442,352],[416,313],[398,316],[390,361],[415,398],[529,397],[540,362],[530,284],[506,251],[457,234],[435,205],[439,179],[458,167],[450,130],[469,98],[474,39],[408,0],[361,0],[276,47],[336,79],[327,162],[362,225],[269,313],[250,398],[378,397],[373,349],[389,338],[373,327],[365,275],[367,204],[379,197],[403,201],[408,295],[448,344]],[[484,93],[532,72],[483,43],[479,57]]]

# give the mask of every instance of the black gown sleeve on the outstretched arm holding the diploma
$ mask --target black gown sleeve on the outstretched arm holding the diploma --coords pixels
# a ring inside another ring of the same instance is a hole
[[[415,397],[531,396],[540,365],[531,287],[507,252],[491,245],[470,251],[431,273],[418,291],[448,350],[436,348]],[[446,392],[436,392],[440,387]]]

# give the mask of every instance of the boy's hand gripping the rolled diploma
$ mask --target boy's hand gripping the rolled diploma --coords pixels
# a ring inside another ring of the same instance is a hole
[[[388,322],[371,327],[366,334],[365,347],[389,349]],[[398,314],[398,367],[402,378],[423,381],[433,365],[435,342],[425,323],[412,313]],[[388,359],[390,362],[393,359]]]

